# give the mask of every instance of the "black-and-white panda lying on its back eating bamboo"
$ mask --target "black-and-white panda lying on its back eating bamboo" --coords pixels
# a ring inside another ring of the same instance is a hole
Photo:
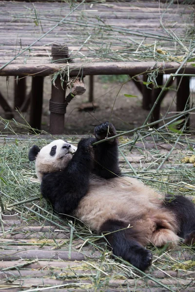
[[[116,256],[144,271],[152,259],[145,245],[174,245],[179,237],[195,243],[195,205],[182,196],[163,198],[139,180],[121,177],[117,139],[92,146],[107,134],[116,135],[112,124],[97,126],[96,138],[80,140],[73,156],[73,146],[62,140],[41,149],[34,145],[29,160],[36,160],[41,193],[57,212],[106,234]]]

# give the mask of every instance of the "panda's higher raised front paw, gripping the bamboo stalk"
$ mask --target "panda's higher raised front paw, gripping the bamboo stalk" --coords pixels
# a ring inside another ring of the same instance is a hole
[[[102,140],[115,136],[117,132],[113,124],[105,122],[100,124],[99,126],[96,126],[96,128],[94,129],[94,134],[98,140]]]

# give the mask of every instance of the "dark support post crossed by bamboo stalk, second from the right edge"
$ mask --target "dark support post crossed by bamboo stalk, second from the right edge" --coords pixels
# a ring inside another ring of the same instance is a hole
[[[158,74],[156,77],[156,83],[159,87],[153,87],[152,89],[152,96],[151,96],[151,100],[152,100],[152,106],[154,105],[154,103],[156,102],[156,98],[158,97],[158,95],[160,94],[160,91],[162,90],[162,84],[163,84],[163,74]],[[160,119],[160,104],[161,101],[163,100],[164,95],[161,95],[160,99],[158,100],[156,107],[152,113],[151,116],[151,122],[157,121]],[[158,128],[158,124],[155,125],[155,128]]]

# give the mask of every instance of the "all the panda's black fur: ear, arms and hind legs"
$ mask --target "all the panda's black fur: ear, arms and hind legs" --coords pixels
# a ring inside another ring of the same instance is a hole
[[[117,140],[111,139],[92,147],[94,142],[106,136],[113,137],[115,134],[116,130],[112,124],[106,122],[99,125],[95,128],[96,138],[82,139],[78,143],[78,149],[72,160],[64,170],[43,175],[42,195],[49,199],[57,212],[71,214],[77,209],[79,201],[88,191],[92,172],[105,179],[120,175]],[[36,157],[37,151],[38,149],[31,150],[29,159]],[[185,237],[186,243],[193,243],[195,238],[194,204],[181,196],[176,196],[171,200],[167,197],[164,204],[166,209],[176,214],[180,226],[179,236]],[[128,223],[123,221],[107,220],[102,224],[100,232],[105,234],[116,256],[121,256],[144,271],[150,265],[152,255],[139,244],[142,242],[139,240],[142,236],[140,232],[127,226]]]

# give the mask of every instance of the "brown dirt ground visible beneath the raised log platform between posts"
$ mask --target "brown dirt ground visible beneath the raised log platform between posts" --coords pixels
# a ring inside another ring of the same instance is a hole
[[[27,77],[27,93],[30,91],[31,77]],[[125,131],[137,128],[145,121],[149,110],[142,109],[142,96],[132,81],[127,82],[121,87],[122,82],[128,80],[125,75],[120,76],[95,76],[94,77],[94,102],[98,108],[92,111],[80,111],[79,107],[88,101],[89,96],[89,77],[84,79],[86,92],[83,95],[76,96],[68,105],[65,114],[65,134],[87,134],[93,132],[97,124],[110,121],[117,130]],[[14,77],[10,77],[6,82],[6,77],[0,77],[0,91],[13,107],[14,99]],[[125,97],[124,94],[135,95],[137,97]],[[175,114],[176,91],[169,91],[161,105],[161,115],[164,115],[172,104],[170,111]],[[195,94],[194,94],[195,95]],[[45,77],[44,96],[43,96],[43,114],[41,129],[49,132],[49,99],[51,97],[51,79]],[[193,93],[191,101],[193,103]],[[115,102],[116,101],[116,102]],[[113,110],[112,110],[113,109]],[[29,111],[29,110],[28,110]],[[22,113],[24,119],[15,112],[15,120],[25,123],[29,121],[29,113]],[[0,116],[5,118],[3,110],[0,108]],[[191,115],[191,129],[195,128],[195,115]]]

